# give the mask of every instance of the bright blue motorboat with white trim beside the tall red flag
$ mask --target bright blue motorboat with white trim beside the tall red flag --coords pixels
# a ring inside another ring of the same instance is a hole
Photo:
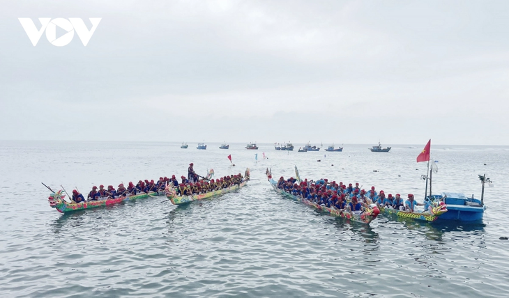
[[[486,205],[480,200],[467,198],[464,194],[455,192],[443,192],[440,196],[433,195],[432,199],[442,200],[447,205],[447,212],[439,216],[439,219],[453,221],[479,221],[483,219]]]

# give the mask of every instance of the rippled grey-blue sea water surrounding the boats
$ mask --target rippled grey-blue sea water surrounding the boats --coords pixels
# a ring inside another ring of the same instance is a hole
[[[434,194],[480,198],[478,176],[493,182],[483,221],[471,224],[383,214],[351,222],[284,198],[265,175],[290,178],[297,166],[303,179],[422,203],[427,163],[416,157],[425,143],[383,153],[368,150],[376,144],[288,152],[268,143],[0,141],[0,297],[509,297],[508,146],[432,143]],[[50,207],[41,184],[86,195],[94,185],[180,177],[190,162],[213,178],[250,168],[251,180],[187,205],[160,196],[70,214]]]

